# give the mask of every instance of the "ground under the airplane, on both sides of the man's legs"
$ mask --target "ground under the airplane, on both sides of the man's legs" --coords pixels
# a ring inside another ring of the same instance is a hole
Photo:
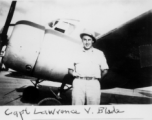
[[[0,105],[19,105],[31,106],[38,105],[43,98],[56,98],[61,83],[45,81],[39,86],[39,97],[36,102],[30,102],[23,99],[23,91],[28,86],[33,86],[30,80],[35,78],[25,76],[16,71],[0,72]],[[52,93],[53,91],[53,93]],[[28,94],[30,94],[30,91]],[[101,90],[101,104],[151,104],[152,103],[152,87],[124,89],[113,88]],[[71,90],[61,95],[61,104],[71,105]],[[60,101],[60,99],[59,99]]]

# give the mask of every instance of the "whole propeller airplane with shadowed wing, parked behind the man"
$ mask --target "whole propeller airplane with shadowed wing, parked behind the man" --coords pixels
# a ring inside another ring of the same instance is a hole
[[[1,33],[0,51],[6,46],[2,62],[13,70],[37,78],[32,81],[34,87],[24,92],[32,99],[37,95],[38,84],[45,80],[62,83],[61,93],[71,89],[68,87],[65,90],[64,87],[72,84],[73,78],[67,74],[68,65],[81,46],[81,40],[75,37],[83,30],[79,21],[57,19],[45,28],[21,20],[14,25],[8,40],[7,31],[15,5],[16,1],[13,1]],[[100,81],[102,89],[151,86],[151,19],[150,10],[105,35],[97,35],[94,47],[104,52],[109,65],[107,75]],[[75,33],[76,30],[79,32]],[[29,91],[34,92],[29,95]]]

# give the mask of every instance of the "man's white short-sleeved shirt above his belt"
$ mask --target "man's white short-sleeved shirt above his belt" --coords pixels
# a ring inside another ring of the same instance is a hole
[[[80,49],[74,55],[73,67],[80,77],[101,78],[101,70],[108,69],[107,61],[102,51],[95,48]]]

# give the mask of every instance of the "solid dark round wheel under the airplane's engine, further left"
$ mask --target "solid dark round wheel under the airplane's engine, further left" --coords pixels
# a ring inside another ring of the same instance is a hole
[[[39,90],[34,86],[29,86],[24,89],[22,100],[29,103],[37,103],[39,100]]]

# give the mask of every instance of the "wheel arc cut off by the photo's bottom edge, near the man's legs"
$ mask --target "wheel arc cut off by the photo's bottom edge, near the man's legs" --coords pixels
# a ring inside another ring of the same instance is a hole
[[[56,105],[61,105],[61,103],[55,98],[44,98],[38,103],[38,105],[39,106],[45,106],[45,105],[56,106]]]

